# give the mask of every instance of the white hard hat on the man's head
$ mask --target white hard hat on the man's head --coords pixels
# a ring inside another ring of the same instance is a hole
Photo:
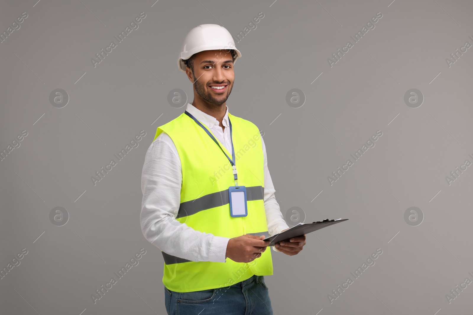
[[[185,73],[184,60],[189,59],[193,54],[200,51],[210,50],[230,50],[236,52],[233,63],[241,57],[241,52],[235,47],[232,35],[223,26],[217,24],[202,24],[194,27],[185,36],[181,53],[177,59],[177,67]]]

